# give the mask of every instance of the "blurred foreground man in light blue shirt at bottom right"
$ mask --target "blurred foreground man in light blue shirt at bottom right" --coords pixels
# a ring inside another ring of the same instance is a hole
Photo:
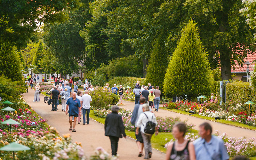
[[[199,126],[200,138],[194,141],[196,160],[228,160],[227,149],[222,139],[212,135],[212,126],[204,122]]]

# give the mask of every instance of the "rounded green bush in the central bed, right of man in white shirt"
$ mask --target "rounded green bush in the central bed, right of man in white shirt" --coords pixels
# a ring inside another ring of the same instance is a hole
[[[116,97],[114,93],[105,92],[102,88],[96,88],[93,92],[89,92],[92,96],[92,102],[90,103],[94,109],[109,109],[110,105],[116,104]],[[114,94],[114,95],[112,95]]]

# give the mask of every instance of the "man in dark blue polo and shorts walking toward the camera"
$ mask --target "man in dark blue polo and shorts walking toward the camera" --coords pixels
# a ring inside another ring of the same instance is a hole
[[[69,107],[69,109],[68,109]],[[69,114],[69,115],[68,115]],[[72,97],[67,101],[66,115],[69,116],[69,131],[76,132],[76,118],[78,114],[81,116],[81,104],[80,100],[76,98],[76,92],[72,92]],[[72,130],[72,118],[74,116],[73,130]]]

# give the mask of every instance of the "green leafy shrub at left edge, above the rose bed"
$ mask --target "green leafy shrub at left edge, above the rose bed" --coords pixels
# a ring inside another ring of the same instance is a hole
[[[2,101],[9,100],[14,103],[14,101],[19,101],[20,95],[25,92],[25,80],[20,83],[20,81],[12,81],[6,76],[0,75],[0,82]]]

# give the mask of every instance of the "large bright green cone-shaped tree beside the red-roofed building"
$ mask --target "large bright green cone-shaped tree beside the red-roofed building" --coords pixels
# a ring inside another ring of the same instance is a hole
[[[164,79],[165,95],[193,100],[210,92],[209,61],[192,20],[182,34],[168,65]]]

